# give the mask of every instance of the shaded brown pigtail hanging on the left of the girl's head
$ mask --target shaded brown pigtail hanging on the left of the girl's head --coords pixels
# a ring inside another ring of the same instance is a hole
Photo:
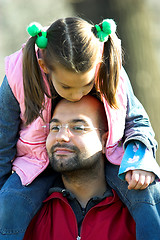
[[[36,37],[31,37],[23,49],[23,85],[26,125],[42,117],[44,81],[35,52]]]

